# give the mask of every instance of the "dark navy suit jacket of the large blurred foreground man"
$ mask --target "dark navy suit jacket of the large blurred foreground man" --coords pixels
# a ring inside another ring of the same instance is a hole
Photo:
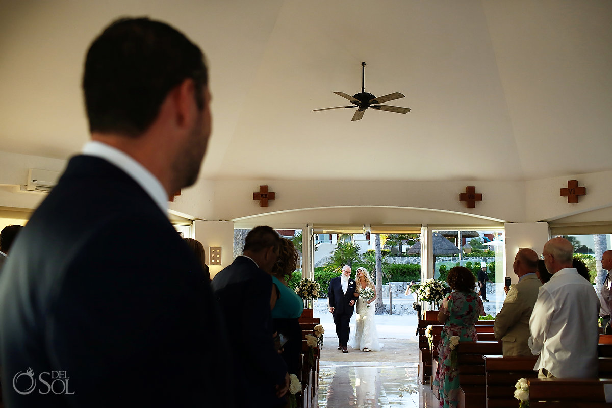
[[[0,302],[7,406],[234,406],[208,280],[165,213],[102,158],[70,160],[12,247]],[[53,376],[67,380],[50,392]]]

